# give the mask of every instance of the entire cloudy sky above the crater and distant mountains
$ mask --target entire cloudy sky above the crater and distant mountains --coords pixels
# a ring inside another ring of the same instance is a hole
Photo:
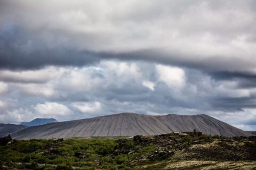
[[[255,1],[0,1],[0,123],[135,112],[256,130]]]

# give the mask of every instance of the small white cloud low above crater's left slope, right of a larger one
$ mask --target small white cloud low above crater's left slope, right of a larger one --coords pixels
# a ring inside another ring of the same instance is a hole
[[[101,111],[101,104],[99,101],[73,103],[73,107],[82,113],[95,113]]]

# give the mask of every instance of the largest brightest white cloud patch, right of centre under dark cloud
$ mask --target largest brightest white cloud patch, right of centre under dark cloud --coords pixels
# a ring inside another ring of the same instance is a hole
[[[181,89],[185,86],[185,71],[181,68],[161,64],[157,64],[155,67],[159,80],[165,82],[170,88]]]

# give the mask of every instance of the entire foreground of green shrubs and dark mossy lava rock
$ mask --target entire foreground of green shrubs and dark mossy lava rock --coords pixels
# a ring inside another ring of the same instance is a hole
[[[3,169],[255,169],[256,137],[200,132],[133,138],[10,140]]]

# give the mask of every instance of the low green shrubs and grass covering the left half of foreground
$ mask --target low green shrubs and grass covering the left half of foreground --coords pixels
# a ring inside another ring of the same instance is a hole
[[[63,141],[54,139],[20,140],[11,145],[0,147],[0,161],[1,164],[10,167],[17,166],[15,163],[24,163],[19,165],[20,168],[24,169],[42,169],[37,167],[35,163],[58,165],[62,169],[65,167],[130,169],[121,165],[128,160],[126,155],[110,156],[115,149],[118,149],[118,143],[115,140],[104,138],[72,138]],[[131,145],[133,145],[132,140]],[[76,156],[79,154],[83,156],[84,153],[87,154],[84,157]],[[55,169],[55,167],[48,166],[47,169]]]

